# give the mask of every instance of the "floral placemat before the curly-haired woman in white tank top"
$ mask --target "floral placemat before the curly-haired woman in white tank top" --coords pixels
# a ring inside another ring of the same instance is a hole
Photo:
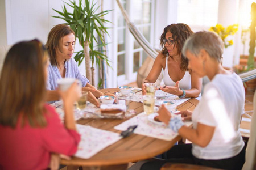
[[[131,100],[131,101],[137,101],[137,102],[143,102],[143,98],[142,98],[142,91],[139,91],[137,93],[135,93],[133,96],[130,97],[121,97],[123,99],[126,100]],[[164,96],[164,97],[156,97],[156,101],[155,101],[155,105],[161,105],[162,101],[171,101],[172,103],[174,103],[175,105],[180,105],[181,103],[187,101],[190,98],[179,98],[176,95],[168,95],[168,96]]]

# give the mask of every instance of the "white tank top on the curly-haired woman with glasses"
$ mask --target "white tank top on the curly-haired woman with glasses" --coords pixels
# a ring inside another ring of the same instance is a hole
[[[168,56],[166,57],[166,69],[164,69],[164,84],[166,86],[175,86],[176,82],[172,81],[172,79],[169,76],[167,63],[168,63]],[[191,75],[189,74],[188,71],[185,72],[185,75],[180,80],[179,86],[184,90],[191,89]]]

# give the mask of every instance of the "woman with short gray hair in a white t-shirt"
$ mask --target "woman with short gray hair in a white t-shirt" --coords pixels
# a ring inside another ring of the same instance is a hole
[[[210,82],[195,110],[183,111],[183,120],[191,120],[193,128],[184,126],[179,116],[171,117],[162,106],[159,120],[192,142],[176,145],[165,153],[166,160],[147,162],[141,169],[160,169],[166,162],[205,165],[221,169],[241,169],[245,162],[245,144],[239,126],[244,112],[245,90],[236,73],[221,65],[223,42],[216,33],[197,32],[185,42],[183,54],[189,69]]]

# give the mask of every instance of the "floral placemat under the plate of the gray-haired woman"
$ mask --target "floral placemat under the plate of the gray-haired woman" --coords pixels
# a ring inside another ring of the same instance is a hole
[[[122,122],[122,124],[115,126],[114,129],[126,130],[129,126],[132,125],[138,125],[138,127],[134,130],[134,133],[136,134],[163,139],[166,141],[171,141],[178,135],[170,128],[168,128],[168,126],[165,124],[159,125],[149,121],[147,114],[145,114],[144,112],[138,114],[133,118],[130,118],[125,122]],[[190,126],[192,125],[192,122],[185,122],[185,125]]]

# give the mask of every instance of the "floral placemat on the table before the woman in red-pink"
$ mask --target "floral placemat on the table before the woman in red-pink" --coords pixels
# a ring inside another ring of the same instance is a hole
[[[76,124],[77,131],[81,135],[81,141],[75,156],[88,159],[104,148],[117,142],[122,137],[119,133]]]

